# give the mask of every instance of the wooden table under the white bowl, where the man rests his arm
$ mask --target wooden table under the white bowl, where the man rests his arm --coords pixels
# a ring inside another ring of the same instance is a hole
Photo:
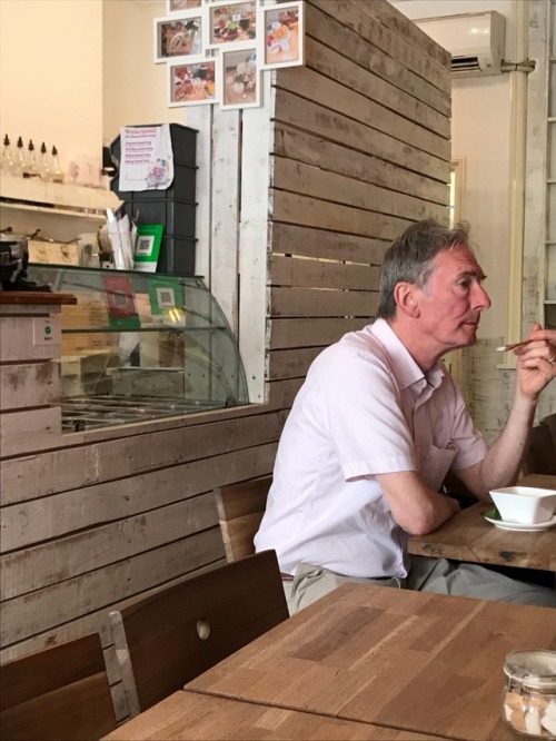
[[[556,490],[556,476],[532,475],[518,483]],[[556,572],[556,527],[533,533],[499,530],[481,514],[493,506],[474,504],[433,533],[414,535],[409,539],[409,553]]]

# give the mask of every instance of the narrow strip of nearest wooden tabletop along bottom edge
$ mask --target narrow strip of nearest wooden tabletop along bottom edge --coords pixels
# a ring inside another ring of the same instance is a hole
[[[216,698],[197,692],[175,692],[129,723],[105,737],[106,741],[178,741],[179,739],[371,739],[429,741],[421,733],[329,715]]]

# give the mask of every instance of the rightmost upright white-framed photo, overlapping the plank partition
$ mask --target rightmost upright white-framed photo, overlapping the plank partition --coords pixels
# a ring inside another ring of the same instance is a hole
[[[260,69],[298,67],[305,62],[304,3],[261,8]]]

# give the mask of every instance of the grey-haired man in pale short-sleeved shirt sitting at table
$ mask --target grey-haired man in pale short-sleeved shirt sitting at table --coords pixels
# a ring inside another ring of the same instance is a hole
[[[556,591],[485,566],[409,557],[410,535],[459,511],[448,473],[477,498],[518,475],[556,332],[517,356],[506,427],[488,447],[440,358],[476,342],[490,299],[465,224],[410,226],[386,253],[377,319],[312,363],[280,438],[257,551],[276,550],[290,612],[345,581],[556,606]],[[294,579],[291,579],[294,577]]]

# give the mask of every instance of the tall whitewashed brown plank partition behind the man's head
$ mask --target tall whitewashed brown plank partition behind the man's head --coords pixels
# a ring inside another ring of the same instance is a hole
[[[310,0],[307,63],[275,78],[269,381],[375,315],[384,251],[446,219],[447,58],[389,3]]]

